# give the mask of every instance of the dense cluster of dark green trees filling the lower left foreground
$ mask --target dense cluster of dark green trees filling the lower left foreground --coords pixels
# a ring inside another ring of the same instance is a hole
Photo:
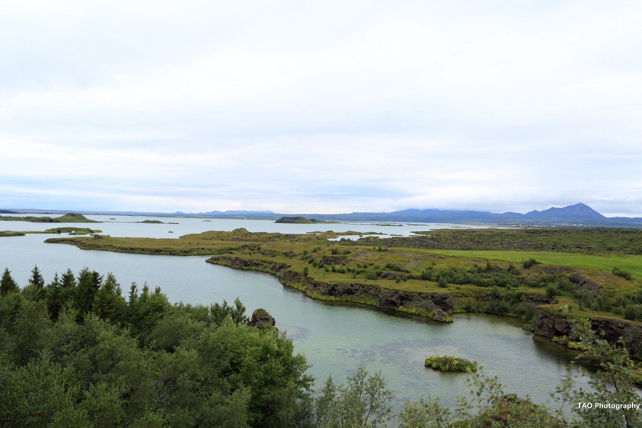
[[[286,426],[309,400],[306,359],[244,312],[171,305],[147,284],[126,302],[87,268],[46,286],[35,268],[21,293],[3,278],[0,425]]]

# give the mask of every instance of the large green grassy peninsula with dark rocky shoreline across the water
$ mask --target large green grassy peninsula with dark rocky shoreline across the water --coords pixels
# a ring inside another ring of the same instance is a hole
[[[631,352],[642,357],[641,230],[440,230],[434,237],[328,240],[341,234],[238,228],[180,239],[94,235],[46,242],[88,250],[212,255],[207,262],[272,273],[311,298],[445,322],[458,312],[514,316],[537,334],[573,336],[573,342],[573,326],[559,314],[568,305],[572,316],[590,318],[611,341],[624,336]]]

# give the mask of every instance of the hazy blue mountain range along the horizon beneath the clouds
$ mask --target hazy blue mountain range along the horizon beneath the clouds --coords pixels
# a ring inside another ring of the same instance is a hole
[[[66,214],[69,210],[5,209],[6,211],[28,214]],[[279,214],[272,211],[227,210],[198,213],[163,212],[117,212],[117,211],[75,211],[79,214],[136,215],[161,217],[210,217],[279,219],[282,216],[301,216],[330,221],[398,221],[406,223],[472,223],[492,225],[538,225],[538,226],[612,226],[642,227],[642,218],[605,217],[584,203],[563,208],[533,210],[526,214],[519,212],[489,212],[474,210],[405,209],[394,212],[351,212],[349,214]]]

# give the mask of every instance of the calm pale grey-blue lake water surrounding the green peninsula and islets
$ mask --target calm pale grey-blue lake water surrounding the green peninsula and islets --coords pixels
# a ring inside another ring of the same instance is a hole
[[[105,216],[88,216],[103,219]],[[147,218],[118,218],[141,221]],[[150,218],[153,219],[153,218]],[[156,218],[157,219],[157,218]],[[165,219],[180,225],[137,223],[78,223],[69,227],[100,228],[112,236],[167,237],[245,227],[252,232],[304,233],[322,228],[335,231],[355,230],[351,225],[284,225],[261,220]],[[371,224],[371,223],[366,223]],[[0,229],[44,230],[55,224],[4,222]],[[407,227],[407,230],[428,230]],[[442,226],[447,227],[447,226]],[[388,227],[399,230],[404,227]],[[376,231],[386,232],[385,227]],[[174,234],[168,234],[173,230]],[[369,231],[361,230],[359,231]],[[401,232],[392,232],[399,233]],[[544,402],[566,375],[566,367],[577,352],[565,350],[548,338],[524,330],[514,318],[486,314],[455,314],[451,324],[425,320],[366,305],[312,300],[298,290],[284,287],[277,278],[256,271],[242,271],[205,263],[204,256],[168,256],[112,253],[80,250],[67,244],[45,244],[48,235],[28,234],[0,238],[0,269],[8,267],[21,286],[37,264],[47,281],[53,274],[71,268],[74,272],[87,266],[116,275],[123,292],[132,281],[160,286],[171,302],[209,304],[239,296],[251,313],[263,307],[293,339],[297,352],[308,357],[309,373],[318,379],[317,386],[332,374],[341,382],[363,362],[369,370],[383,369],[388,387],[394,389],[396,404],[404,398],[418,398],[427,392],[438,395],[442,404],[453,406],[455,396],[465,394],[465,373],[440,372],[424,367],[426,354],[452,354],[477,361],[487,374],[496,375],[507,384],[505,392],[529,394]],[[580,382],[579,386],[586,386]]]

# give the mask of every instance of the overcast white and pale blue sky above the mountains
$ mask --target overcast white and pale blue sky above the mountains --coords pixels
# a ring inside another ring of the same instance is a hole
[[[0,0],[0,208],[642,217],[641,19],[618,0]]]

